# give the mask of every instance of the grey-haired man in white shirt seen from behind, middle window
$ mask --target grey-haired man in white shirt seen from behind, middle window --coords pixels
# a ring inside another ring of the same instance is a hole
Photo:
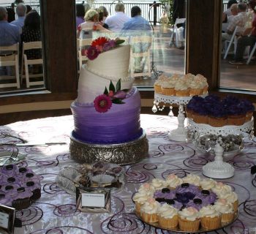
[[[129,20],[129,16],[124,14],[124,4],[118,2],[115,7],[116,14],[108,16],[105,23],[108,24],[108,29],[114,32],[119,32],[124,26],[124,23]]]

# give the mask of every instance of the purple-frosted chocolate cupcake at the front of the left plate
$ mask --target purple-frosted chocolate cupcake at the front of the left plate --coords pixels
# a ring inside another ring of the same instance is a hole
[[[12,207],[14,207],[17,210],[29,207],[31,196],[32,192],[29,191],[29,189],[19,187],[17,189],[17,196],[15,197],[15,200],[12,201]]]

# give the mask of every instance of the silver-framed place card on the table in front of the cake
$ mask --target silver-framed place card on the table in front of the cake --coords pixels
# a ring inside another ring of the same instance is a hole
[[[110,213],[110,189],[77,186],[76,203],[82,212]]]

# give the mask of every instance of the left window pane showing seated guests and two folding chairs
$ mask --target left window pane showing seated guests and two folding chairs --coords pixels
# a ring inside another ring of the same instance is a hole
[[[39,1],[0,4],[0,93],[45,87]]]

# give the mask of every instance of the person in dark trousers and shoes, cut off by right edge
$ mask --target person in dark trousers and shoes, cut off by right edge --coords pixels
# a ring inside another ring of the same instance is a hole
[[[252,51],[253,46],[256,43],[256,1],[249,1],[249,7],[254,12],[254,18],[252,20],[252,32],[249,36],[240,37],[237,42],[237,48],[235,53],[235,58],[233,61],[230,61],[230,64],[244,64],[244,50],[246,46],[250,47],[250,53]],[[256,51],[254,53],[256,56]]]

